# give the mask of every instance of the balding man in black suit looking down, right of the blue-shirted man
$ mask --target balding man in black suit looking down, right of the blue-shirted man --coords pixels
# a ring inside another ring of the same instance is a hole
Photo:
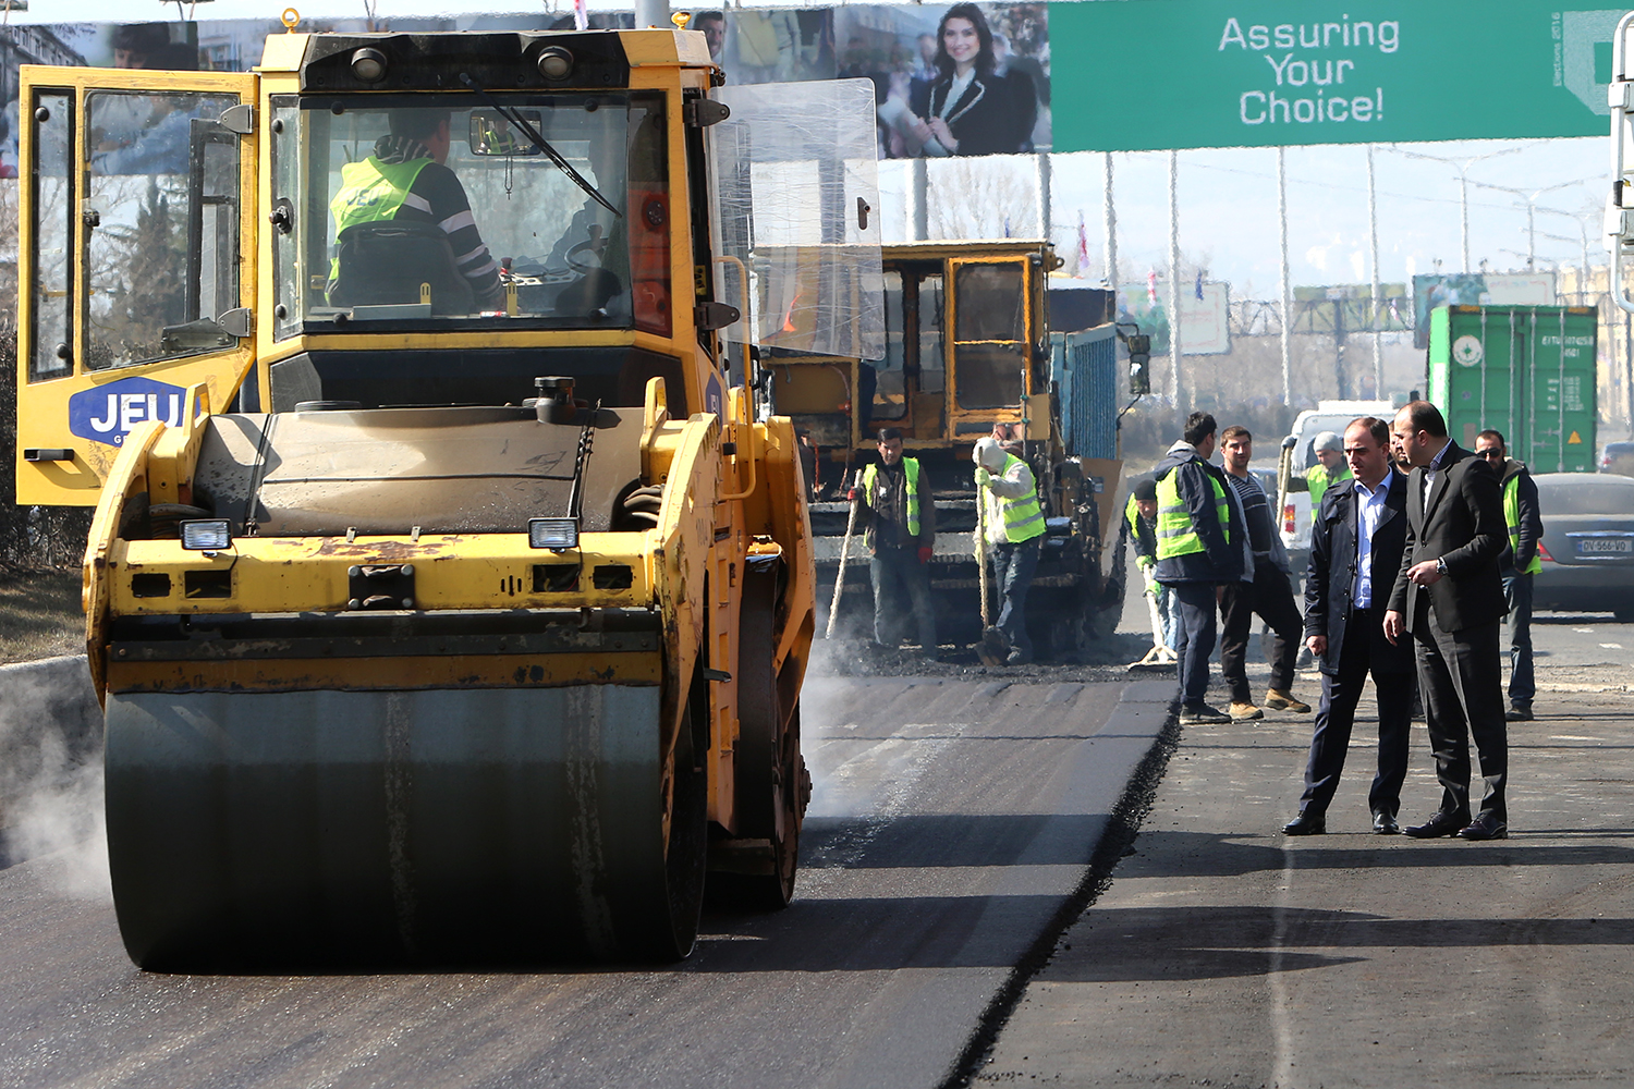
[[[1441,780],[1441,808],[1409,836],[1503,839],[1508,811],[1508,733],[1498,669],[1508,544],[1498,477],[1448,438],[1441,411],[1412,402],[1395,416],[1394,446],[1413,467],[1407,480],[1407,544],[1384,614],[1391,642],[1412,632],[1418,687]],[[1456,674],[1456,676],[1454,676]],[[1469,735],[1476,736],[1485,797],[1469,818]]]

